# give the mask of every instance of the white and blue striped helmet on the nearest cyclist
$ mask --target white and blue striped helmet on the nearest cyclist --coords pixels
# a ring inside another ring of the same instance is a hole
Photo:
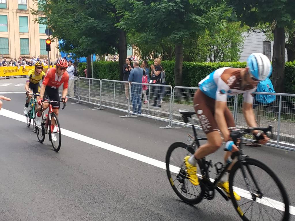
[[[265,80],[271,76],[273,68],[268,57],[261,53],[253,53],[247,59],[249,73],[257,80]]]

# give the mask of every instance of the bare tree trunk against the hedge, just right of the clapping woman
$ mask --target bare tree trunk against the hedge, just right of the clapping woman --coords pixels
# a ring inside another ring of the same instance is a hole
[[[182,86],[183,42],[175,44],[175,86]]]

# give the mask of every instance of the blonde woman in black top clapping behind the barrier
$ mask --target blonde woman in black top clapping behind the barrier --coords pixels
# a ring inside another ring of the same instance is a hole
[[[155,65],[155,66],[154,66]],[[161,60],[159,58],[156,58],[154,60],[154,65],[150,65],[150,69],[152,72],[150,73],[151,80],[156,80],[155,84],[161,84]],[[153,89],[151,90],[152,96],[154,97],[154,104],[151,105],[151,107],[160,108],[160,100],[161,100],[161,87],[153,86]]]

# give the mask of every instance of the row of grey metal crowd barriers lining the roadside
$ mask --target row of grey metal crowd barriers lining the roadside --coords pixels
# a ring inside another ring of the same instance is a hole
[[[122,117],[144,116],[168,122],[163,128],[173,125],[190,126],[182,121],[178,110],[194,110],[193,99],[198,88],[174,87],[130,83],[125,81],[75,77],[74,86],[68,90],[69,98],[101,107],[108,107],[127,113]],[[60,87],[62,90],[62,87]],[[61,91],[60,91],[61,93]],[[253,110],[259,126],[274,126],[273,137],[268,145],[295,151],[295,94],[253,93],[276,95],[270,104],[261,104],[254,99]],[[242,114],[243,96],[235,95],[227,100],[227,107],[234,116],[237,128],[247,127]],[[192,122],[201,129],[197,116]],[[174,127],[175,128],[175,127]],[[246,140],[253,140],[252,135],[245,135]]]

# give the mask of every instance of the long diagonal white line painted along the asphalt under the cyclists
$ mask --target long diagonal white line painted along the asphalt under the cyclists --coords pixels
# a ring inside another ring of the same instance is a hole
[[[8,117],[8,118],[12,118],[14,120],[21,121],[21,122],[24,122],[24,123],[27,122],[25,116],[23,116],[21,114],[18,114],[18,113],[15,113],[15,112],[12,112],[10,110],[3,109],[3,108],[0,111],[0,115]],[[61,133],[64,136],[71,137],[71,138],[76,139],[78,141],[82,141],[84,143],[91,144],[91,145],[100,147],[102,149],[106,149],[106,150],[115,152],[117,154],[121,154],[121,155],[130,157],[132,159],[135,159],[135,160],[138,160],[138,161],[141,161],[141,162],[144,162],[144,163],[159,167],[161,169],[166,169],[166,164],[164,162],[153,159],[153,158],[150,158],[148,156],[137,154],[135,152],[123,149],[121,147],[117,147],[117,146],[114,146],[112,144],[108,144],[108,143],[96,140],[94,138],[87,137],[87,136],[84,136],[82,134],[75,133],[73,131],[69,131],[69,130],[66,130],[66,129],[63,129],[63,128],[61,128]],[[179,169],[180,168],[178,168],[176,166],[171,166],[171,172],[178,173]],[[211,181],[213,182],[214,180],[211,179]],[[250,193],[247,190],[240,189],[240,188],[237,188],[237,187],[234,187],[234,189],[237,192],[237,194],[239,194],[241,197],[249,198]],[[264,198],[265,199],[257,200],[257,202],[259,202],[261,204],[264,204],[266,206],[270,206],[270,207],[275,206],[276,209],[284,211],[284,204],[282,202],[279,202],[279,201],[276,201],[276,200],[273,200],[273,199],[270,199],[270,198],[267,198],[267,197],[264,197]],[[290,214],[295,215],[295,207],[294,206],[290,206]]]

